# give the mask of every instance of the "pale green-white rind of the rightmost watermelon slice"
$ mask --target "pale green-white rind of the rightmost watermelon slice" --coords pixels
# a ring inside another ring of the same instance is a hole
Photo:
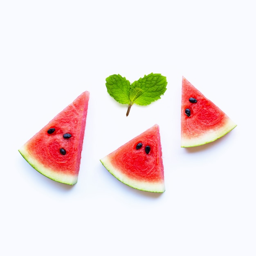
[[[195,146],[202,146],[204,144],[208,144],[210,142],[216,141],[220,139],[231,130],[233,130],[237,125],[232,121],[229,117],[227,117],[227,121],[225,125],[221,127],[216,127],[212,130],[207,130],[206,132],[202,132],[202,135],[199,137],[185,137],[181,136],[181,147],[182,148],[189,148]]]

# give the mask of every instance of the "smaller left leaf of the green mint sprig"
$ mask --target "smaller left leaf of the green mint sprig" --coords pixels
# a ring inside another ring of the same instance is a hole
[[[106,78],[106,87],[109,95],[121,104],[129,104],[130,82],[125,77],[111,75]]]

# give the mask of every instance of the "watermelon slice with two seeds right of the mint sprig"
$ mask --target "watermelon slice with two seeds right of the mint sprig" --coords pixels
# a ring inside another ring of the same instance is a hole
[[[207,144],[235,127],[220,108],[182,77],[181,147]]]

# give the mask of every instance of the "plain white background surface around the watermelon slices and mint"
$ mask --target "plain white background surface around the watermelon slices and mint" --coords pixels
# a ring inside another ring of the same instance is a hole
[[[256,255],[254,1],[1,1],[0,254]],[[105,86],[151,72],[167,90],[126,108]],[[185,76],[238,126],[180,147]],[[78,183],[35,171],[18,149],[90,91]],[[163,194],[132,189],[99,159],[159,124]]]

